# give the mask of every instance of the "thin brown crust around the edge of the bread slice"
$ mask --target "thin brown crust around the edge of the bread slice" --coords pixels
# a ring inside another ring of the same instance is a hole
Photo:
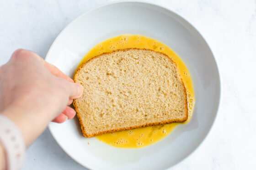
[[[98,56],[95,56],[95,57],[92,57],[90,58],[89,60],[87,60],[85,63],[83,63],[78,69],[77,71],[75,72],[75,76],[74,76],[74,81],[76,79],[76,75],[77,73],[80,72],[81,68],[84,67],[88,62],[91,62],[92,60],[96,59],[97,57],[101,57],[105,54],[111,54],[111,53],[114,53],[114,52],[119,52],[119,51],[122,51],[122,52],[125,52],[125,51],[128,51],[128,50],[141,50],[141,51],[150,51],[150,52],[155,52],[154,50],[151,50],[151,49],[146,49],[146,48],[126,48],[126,49],[119,49],[119,50],[115,50],[115,51],[112,51],[112,52],[104,52]],[[156,52],[156,53],[159,53],[159,54],[162,54],[164,55],[166,58],[168,58],[170,60],[170,62],[174,63],[176,65],[176,69],[178,71],[178,67],[177,67],[177,64],[172,61],[172,59],[167,56],[165,53],[162,53],[162,52]],[[179,72],[178,72],[179,74]],[[131,126],[131,127],[125,127],[125,128],[119,128],[119,129],[112,129],[112,130],[106,130],[106,131],[101,131],[99,133],[95,133],[95,134],[87,134],[86,133],[86,130],[85,130],[85,127],[83,125],[83,121],[82,121],[82,118],[80,117],[82,113],[79,113],[78,112],[78,109],[77,109],[77,105],[76,105],[76,100],[74,99],[74,102],[73,102],[73,105],[75,107],[75,111],[77,112],[77,117],[79,119],[79,123],[80,123],[80,126],[81,126],[81,130],[83,132],[83,135],[87,138],[91,138],[91,137],[95,137],[97,135],[101,135],[101,134],[107,134],[107,133],[112,133],[112,132],[118,132],[118,131],[123,131],[123,130],[130,130],[130,129],[137,129],[137,128],[144,128],[144,127],[148,127],[148,126],[155,126],[155,125],[163,125],[163,124],[171,124],[171,123],[181,123],[181,122],[185,122],[188,118],[188,108],[187,108],[187,92],[186,92],[186,87],[184,85],[184,82],[179,74],[179,78],[182,82],[182,86],[184,87],[184,95],[186,96],[185,98],[185,105],[186,105],[186,117],[183,118],[183,119],[175,119],[175,120],[167,120],[167,121],[162,121],[162,122],[155,122],[155,123],[149,123],[149,124],[143,124],[143,125],[139,125],[139,126]]]

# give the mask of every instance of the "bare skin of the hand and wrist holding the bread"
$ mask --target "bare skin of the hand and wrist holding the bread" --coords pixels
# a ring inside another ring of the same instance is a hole
[[[70,108],[83,87],[36,53],[16,50],[0,67],[0,113],[21,130],[29,146],[50,121],[74,118]],[[5,169],[5,150],[0,143],[0,170]]]

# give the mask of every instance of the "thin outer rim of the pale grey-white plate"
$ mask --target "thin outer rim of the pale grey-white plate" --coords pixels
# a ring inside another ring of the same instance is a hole
[[[115,4],[125,4],[125,3],[131,3],[131,4],[140,4],[140,5],[151,5],[153,8],[155,7],[158,7],[158,8],[162,8],[162,9],[165,9],[165,10],[168,10],[169,12],[172,13],[172,15],[176,15],[176,17],[179,18],[179,20],[183,20],[183,22],[187,23],[190,27],[192,27],[199,36],[201,36],[201,38],[203,39],[203,41],[205,41],[206,45],[208,46],[210,52],[212,53],[212,56],[213,56],[213,60],[216,64],[216,67],[217,67],[217,73],[218,73],[218,76],[219,76],[219,84],[218,84],[218,88],[219,88],[219,102],[218,102],[218,106],[217,106],[217,109],[216,109],[216,114],[215,114],[215,117],[213,119],[213,123],[210,127],[210,129],[208,130],[207,134],[204,136],[203,140],[196,146],[196,148],[191,152],[189,153],[188,155],[186,155],[182,160],[180,160],[179,162],[177,162],[176,164],[174,164],[173,166],[170,166],[168,169],[174,169],[175,167],[177,167],[178,165],[181,165],[181,163],[183,163],[185,160],[187,160],[193,153],[195,153],[195,151],[200,148],[200,146],[205,142],[205,140],[208,138],[208,135],[211,133],[211,131],[213,130],[213,126],[216,124],[216,119],[219,115],[219,108],[221,107],[221,101],[222,101],[222,93],[223,93],[223,84],[222,84],[222,75],[221,75],[221,71],[220,71],[220,67],[219,67],[219,64],[217,62],[217,59],[214,55],[214,52],[213,50],[211,49],[211,47],[209,46],[209,43],[208,41],[205,39],[205,37],[203,36],[203,34],[198,31],[198,29],[191,23],[189,22],[183,15],[181,14],[177,14],[176,12],[174,12],[173,10],[169,9],[168,7],[165,7],[163,5],[160,5],[160,4],[157,4],[157,3],[154,3],[154,2],[145,2],[145,1],[141,1],[141,0],[124,0],[124,1],[111,1],[111,2],[107,2],[107,3],[104,3],[104,4],[101,4],[101,5],[97,5],[87,11],[85,11],[83,14],[79,15],[78,17],[76,17],[74,20],[72,20],[71,22],[69,22],[68,25],[66,25],[64,27],[64,29],[62,31],[60,31],[59,35],[54,39],[52,45],[50,46],[47,54],[46,54],[46,57],[45,57],[45,61],[47,61],[47,58],[49,56],[49,53],[52,51],[52,48],[53,46],[55,45],[56,41],[59,39],[59,36],[61,36],[63,34],[63,32],[67,29],[67,27],[69,27],[71,24],[73,24],[75,21],[79,20],[81,17],[83,17],[84,15],[87,15],[89,14],[91,11],[94,11],[94,10],[97,10],[97,9],[100,9],[100,8],[103,8],[103,7],[106,7],[106,6],[109,6],[109,5],[115,5]],[[49,129],[51,135],[53,136],[53,139],[57,142],[57,144],[59,145],[59,147],[67,154],[69,155],[69,153],[61,146],[61,144],[59,144],[58,140],[55,138],[55,136],[53,135],[53,132],[50,128],[50,125],[48,124],[47,128]],[[69,155],[72,160],[75,160],[73,158],[72,155]],[[77,162],[78,164],[80,164],[80,162],[78,162],[77,160],[75,160],[75,162]],[[82,165],[82,164],[80,164]],[[83,167],[87,168],[87,169],[93,169],[93,167],[90,167],[88,165],[82,165]]]

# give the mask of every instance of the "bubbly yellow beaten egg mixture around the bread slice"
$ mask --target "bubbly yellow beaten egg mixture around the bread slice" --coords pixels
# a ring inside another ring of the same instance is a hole
[[[187,89],[188,119],[186,122],[151,126],[96,136],[96,138],[100,141],[115,147],[141,148],[165,138],[165,136],[170,134],[178,124],[186,124],[189,122],[195,103],[193,85],[186,65],[182,62],[181,58],[173,50],[171,50],[171,48],[160,41],[140,35],[125,34],[110,38],[97,44],[85,55],[78,67],[80,67],[82,63],[86,62],[88,59],[104,52],[112,52],[117,49],[125,48],[148,48],[156,52],[163,52],[167,54],[174,62],[176,62],[181,78]]]

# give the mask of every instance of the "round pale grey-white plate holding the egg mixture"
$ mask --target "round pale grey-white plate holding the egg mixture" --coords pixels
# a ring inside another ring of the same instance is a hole
[[[216,61],[200,33],[181,16],[163,7],[119,2],[91,10],[71,22],[56,38],[46,61],[69,77],[84,55],[97,43],[121,34],[149,36],[170,46],[192,76],[195,109],[192,120],[179,125],[165,139],[141,149],[120,149],[96,138],[82,136],[77,119],[50,123],[60,147],[81,165],[104,170],[162,170],[184,160],[205,139],[220,102]],[[88,144],[89,142],[89,144]]]

